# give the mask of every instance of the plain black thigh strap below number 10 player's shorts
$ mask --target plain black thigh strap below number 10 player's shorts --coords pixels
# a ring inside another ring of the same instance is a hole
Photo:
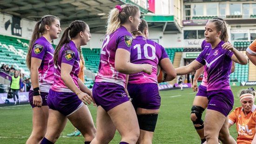
[[[139,126],[144,131],[155,131],[158,114],[137,115]]]

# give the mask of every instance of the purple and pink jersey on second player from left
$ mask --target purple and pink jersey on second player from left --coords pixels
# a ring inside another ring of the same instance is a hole
[[[51,88],[55,92],[72,92],[61,79],[61,63],[73,66],[70,76],[73,79],[74,84],[79,88],[78,72],[80,70],[80,58],[79,52],[72,40],[67,45],[61,47],[58,55],[58,65],[54,65],[54,84]]]

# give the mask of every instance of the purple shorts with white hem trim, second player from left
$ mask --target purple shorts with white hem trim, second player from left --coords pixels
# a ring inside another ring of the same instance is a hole
[[[47,103],[50,109],[59,111],[66,117],[84,105],[74,92],[56,92],[52,89],[49,91]]]

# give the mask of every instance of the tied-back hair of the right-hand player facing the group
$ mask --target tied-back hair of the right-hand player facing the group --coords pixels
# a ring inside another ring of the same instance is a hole
[[[227,23],[222,18],[214,18],[212,20],[209,20],[209,22],[213,22],[216,26],[217,32],[221,32],[220,39],[224,42],[229,41],[229,35],[227,30]]]

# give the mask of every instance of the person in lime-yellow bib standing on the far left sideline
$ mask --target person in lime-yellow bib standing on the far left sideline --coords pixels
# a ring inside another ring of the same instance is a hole
[[[20,79],[20,76],[19,76],[19,72],[15,71],[14,75],[12,76],[12,80],[11,80],[11,84],[10,84],[10,89],[13,92],[14,105],[17,104],[17,101],[18,101],[18,104],[20,103],[19,102],[19,95],[18,95],[19,89],[22,92],[20,86],[21,86],[21,79]],[[15,99],[15,96],[17,97],[17,101]]]

